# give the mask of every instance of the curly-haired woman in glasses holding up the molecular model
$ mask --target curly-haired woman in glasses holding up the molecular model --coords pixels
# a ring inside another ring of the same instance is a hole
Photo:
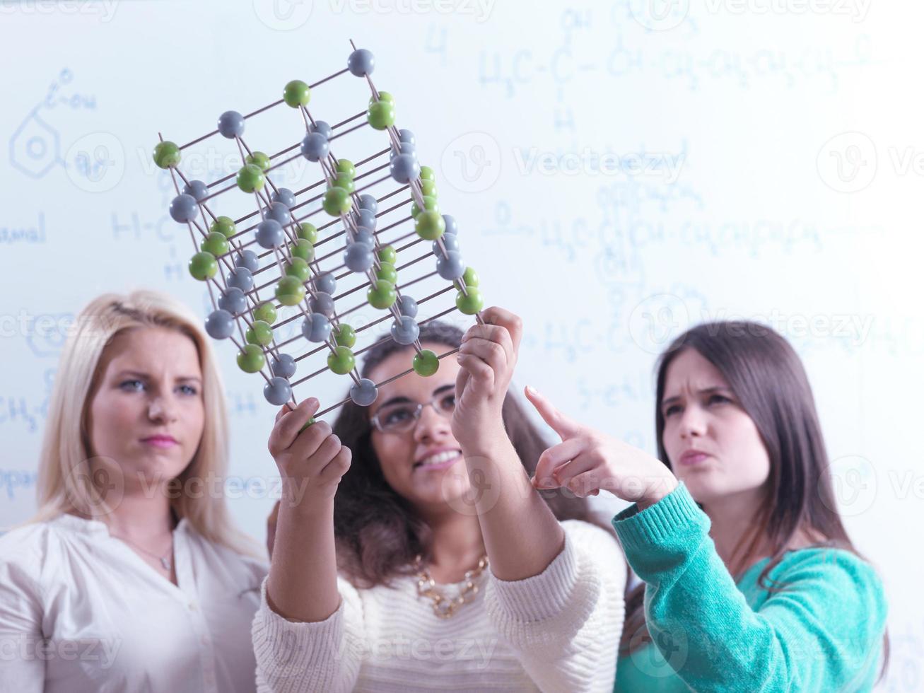
[[[262,690],[613,686],[625,559],[585,500],[531,486],[544,445],[507,395],[520,323],[483,316],[464,337],[425,325],[421,346],[457,358],[346,405],[333,432],[299,432],[316,401],[280,412],[286,494],[253,624]],[[386,383],[413,356],[387,340],[362,375]]]

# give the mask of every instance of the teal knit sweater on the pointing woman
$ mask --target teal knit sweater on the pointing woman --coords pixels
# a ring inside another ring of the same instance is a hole
[[[613,518],[645,582],[652,642],[616,669],[617,691],[859,691],[876,680],[886,603],[879,577],[853,553],[792,551],[758,585],[768,559],[737,584],[686,485]],[[639,634],[640,635],[640,634]]]

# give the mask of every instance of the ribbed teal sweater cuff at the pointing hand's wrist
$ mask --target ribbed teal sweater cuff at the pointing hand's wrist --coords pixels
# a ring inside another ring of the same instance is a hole
[[[709,527],[709,517],[696,505],[683,481],[654,505],[644,510],[630,505],[613,518],[613,528],[626,552],[673,544],[683,529],[708,532]]]

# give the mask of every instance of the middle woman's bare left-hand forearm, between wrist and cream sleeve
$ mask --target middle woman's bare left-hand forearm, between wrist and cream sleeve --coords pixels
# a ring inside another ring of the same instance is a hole
[[[337,610],[334,499],[313,507],[283,501],[279,509],[266,596],[277,614],[323,621]]]

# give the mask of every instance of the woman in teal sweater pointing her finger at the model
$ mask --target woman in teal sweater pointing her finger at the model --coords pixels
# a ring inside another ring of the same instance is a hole
[[[808,378],[782,336],[712,322],[668,347],[660,459],[527,395],[563,440],[542,454],[538,488],[635,502],[613,520],[641,580],[616,690],[873,686],[888,657],[881,580],[837,514]]]

